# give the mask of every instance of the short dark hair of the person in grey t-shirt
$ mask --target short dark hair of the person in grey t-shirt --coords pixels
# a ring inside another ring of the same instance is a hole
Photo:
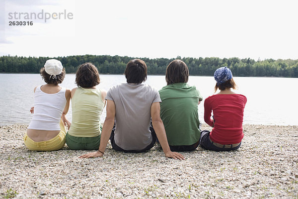
[[[147,65],[141,59],[134,59],[127,63],[124,75],[127,83],[140,84],[147,80]]]

